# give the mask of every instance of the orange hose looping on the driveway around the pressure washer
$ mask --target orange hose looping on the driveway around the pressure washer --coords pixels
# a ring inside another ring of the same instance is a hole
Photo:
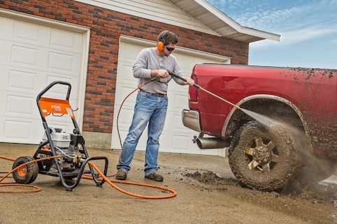
[[[59,158],[61,156],[50,156],[50,157],[45,157],[45,158],[38,158],[36,160],[31,160],[27,163],[23,163],[17,167],[15,167],[15,169],[11,170],[10,172],[8,172],[8,174],[6,174],[5,176],[2,177],[2,179],[0,179],[0,183],[1,181],[3,181],[3,179],[7,178],[9,176],[9,174],[13,173],[15,170],[20,169],[20,167],[27,165],[29,163],[36,163],[38,161],[41,160],[47,160],[47,159],[51,159],[51,158]],[[7,158],[4,156],[0,156],[0,158],[6,159],[6,160],[12,160],[15,161],[15,159],[13,158]],[[88,162],[89,165],[91,165],[98,173],[99,175],[101,175],[101,177],[108,183],[110,184],[110,186],[112,186],[113,188],[115,188],[117,191],[120,191],[124,194],[133,196],[133,197],[141,197],[141,198],[146,198],[146,199],[164,199],[164,198],[170,198],[170,197],[175,197],[177,195],[177,193],[170,189],[170,188],[166,188],[166,187],[162,187],[162,186],[156,186],[156,185],[152,185],[152,184],[142,184],[142,183],[136,183],[136,182],[131,182],[131,181],[115,181],[115,180],[109,180],[108,177],[106,177],[101,170],[99,170],[98,167],[96,167],[96,165],[94,165],[94,163],[92,162]],[[83,179],[92,179],[92,177],[87,177],[87,175],[83,175],[82,176]],[[130,193],[128,191],[124,191],[122,188],[119,188],[117,186],[115,186],[115,184],[113,184],[113,182],[115,183],[120,183],[120,184],[133,184],[133,185],[138,185],[138,186],[146,186],[146,187],[151,187],[151,188],[159,188],[162,189],[164,191],[170,191],[172,194],[171,195],[164,195],[164,196],[147,196],[147,195],[137,195],[134,193]],[[31,187],[31,188],[36,188],[35,190],[31,190],[31,191],[0,191],[0,193],[31,193],[31,192],[38,192],[41,191],[41,188],[38,186],[34,186],[31,184],[15,184],[15,183],[5,183],[5,184],[0,184],[0,187],[2,186],[27,186],[27,187]]]

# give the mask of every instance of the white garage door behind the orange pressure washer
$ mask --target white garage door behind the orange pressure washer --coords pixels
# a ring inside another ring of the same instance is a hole
[[[36,96],[53,81],[71,83],[70,103],[79,106],[83,32],[35,22],[0,14],[0,142],[41,142],[44,130]],[[64,99],[66,86],[57,85],[44,96]],[[49,116],[48,122],[73,130],[68,116]]]

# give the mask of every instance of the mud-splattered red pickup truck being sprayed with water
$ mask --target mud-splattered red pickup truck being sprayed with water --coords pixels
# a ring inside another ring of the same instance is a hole
[[[336,171],[337,70],[197,64],[191,77],[182,123],[200,149],[228,147],[245,186],[276,191]]]

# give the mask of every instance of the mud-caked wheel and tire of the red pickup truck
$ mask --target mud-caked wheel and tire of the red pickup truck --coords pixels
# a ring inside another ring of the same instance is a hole
[[[242,184],[260,191],[287,186],[299,172],[301,159],[289,128],[266,127],[249,121],[237,131],[229,147],[229,165]]]

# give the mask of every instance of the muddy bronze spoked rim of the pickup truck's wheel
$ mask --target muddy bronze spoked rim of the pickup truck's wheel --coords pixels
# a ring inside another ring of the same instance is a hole
[[[250,170],[269,172],[278,163],[277,147],[268,138],[255,137],[245,149],[245,158]]]

